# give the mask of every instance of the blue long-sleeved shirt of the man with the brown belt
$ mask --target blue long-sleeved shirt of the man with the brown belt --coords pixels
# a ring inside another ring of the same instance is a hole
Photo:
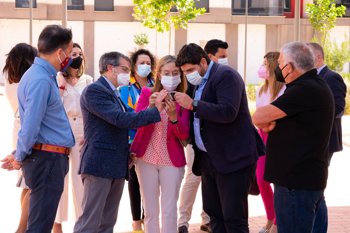
[[[36,57],[17,89],[21,130],[15,158],[23,161],[35,143],[73,147],[75,139],[56,81],[57,71]]]

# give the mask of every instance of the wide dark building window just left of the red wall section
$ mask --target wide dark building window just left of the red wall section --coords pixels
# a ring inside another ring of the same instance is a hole
[[[232,0],[232,15],[245,15],[245,3],[246,0]],[[248,15],[283,15],[283,5],[283,0],[248,0]]]

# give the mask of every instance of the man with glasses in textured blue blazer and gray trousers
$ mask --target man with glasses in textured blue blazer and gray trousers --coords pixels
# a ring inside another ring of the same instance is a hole
[[[84,121],[84,145],[78,174],[84,192],[82,209],[74,232],[113,232],[118,207],[129,169],[136,162],[128,148],[128,129],[161,121],[161,92],[156,107],[138,113],[128,112],[121,101],[118,86],[130,82],[130,58],[119,52],[108,52],[99,61],[102,75],[87,86],[80,97]]]

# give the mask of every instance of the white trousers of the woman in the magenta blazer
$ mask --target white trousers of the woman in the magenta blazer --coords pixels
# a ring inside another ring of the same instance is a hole
[[[160,233],[159,197],[162,210],[162,233],[177,233],[177,200],[185,168],[155,165],[138,158],[135,170],[145,209],[146,233]]]

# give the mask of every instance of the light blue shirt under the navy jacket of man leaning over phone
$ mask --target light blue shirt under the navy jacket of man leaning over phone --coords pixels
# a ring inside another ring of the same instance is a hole
[[[202,92],[203,92],[205,84],[207,84],[207,81],[209,78],[209,72],[210,72],[213,64],[214,64],[214,61],[210,61],[208,70],[207,70],[207,72],[205,72],[204,77],[202,79],[202,82],[201,82],[200,86],[198,87],[198,89],[196,90],[195,100],[201,100]],[[194,112],[194,114],[196,114],[196,113]],[[201,137],[199,119],[196,117],[194,118],[193,127],[194,127],[193,129],[195,132],[195,142],[196,142],[197,147],[199,149],[201,149],[202,151],[207,152],[207,149],[205,149],[205,146],[203,144],[202,137]]]

